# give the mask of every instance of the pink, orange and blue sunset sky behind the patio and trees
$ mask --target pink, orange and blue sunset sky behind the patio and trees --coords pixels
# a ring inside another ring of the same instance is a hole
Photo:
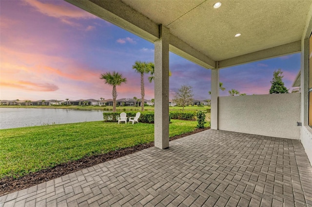
[[[117,71],[128,79],[118,97],[140,97],[135,61],[154,61],[154,44],[62,0],[0,1],[0,100],[111,99],[100,74]],[[220,70],[226,87],[268,94],[273,71],[282,69],[287,88],[300,69],[300,53]],[[170,53],[170,98],[182,85],[194,98],[210,98],[211,71]],[[154,83],[145,80],[145,98]],[[291,90],[290,90],[291,91]]]

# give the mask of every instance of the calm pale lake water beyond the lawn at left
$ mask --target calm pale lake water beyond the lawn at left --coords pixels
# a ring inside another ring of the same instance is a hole
[[[101,120],[101,110],[0,107],[0,129]]]

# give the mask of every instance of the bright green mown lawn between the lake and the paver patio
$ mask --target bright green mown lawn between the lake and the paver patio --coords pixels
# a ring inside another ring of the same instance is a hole
[[[172,120],[170,137],[191,132],[196,121]],[[0,130],[0,178],[19,177],[84,156],[154,140],[154,124],[81,122]]]

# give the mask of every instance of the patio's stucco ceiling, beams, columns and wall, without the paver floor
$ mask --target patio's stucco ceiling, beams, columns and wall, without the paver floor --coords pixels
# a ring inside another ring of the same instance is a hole
[[[155,44],[157,148],[169,147],[169,52],[174,52],[212,70],[207,83],[212,129],[301,140],[311,162],[312,0],[66,1]],[[300,93],[219,96],[220,69],[298,52]]]

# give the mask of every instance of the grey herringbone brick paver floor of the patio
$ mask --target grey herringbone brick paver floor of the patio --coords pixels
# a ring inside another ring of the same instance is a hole
[[[0,197],[0,206],[312,206],[299,140],[207,130]]]

